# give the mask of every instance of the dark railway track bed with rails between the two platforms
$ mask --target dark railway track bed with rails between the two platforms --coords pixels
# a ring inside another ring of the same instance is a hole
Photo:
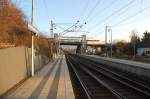
[[[77,99],[150,99],[142,83],[77,55],[66,58]]]

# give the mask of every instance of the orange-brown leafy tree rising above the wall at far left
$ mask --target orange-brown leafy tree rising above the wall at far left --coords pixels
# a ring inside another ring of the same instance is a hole
[[[3,2],[0,2],[0,5],[3,5]],[[0,11],[0,42],[30,45],[31,35],[22,11],[11,2],[7,2]]]

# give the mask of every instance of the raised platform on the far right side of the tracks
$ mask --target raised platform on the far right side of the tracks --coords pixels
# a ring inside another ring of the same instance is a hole
[[[132,75],[139,76],[143,79],[150,79],[150,64],[95,55],[87,55],[83,57],[125,71],[126,73],[131,73]]]

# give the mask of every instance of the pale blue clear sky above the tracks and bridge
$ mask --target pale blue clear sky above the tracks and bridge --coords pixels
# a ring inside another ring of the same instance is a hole
[[[31,0],[12,0],[23,10],[27,19],[31,18]],[[50,35],[50,20],[58,26],[54,32],[62,32],[76,23],[83,25],[90,39],[104,40],[105,26],[112,26],[113,39],[129,40],[132,30],[142,36],[150,31],[150,0],[35,0],[35,26]],[[86,25],[83,23],[87,22]],[[83,33],[66,35],[80,36]]]

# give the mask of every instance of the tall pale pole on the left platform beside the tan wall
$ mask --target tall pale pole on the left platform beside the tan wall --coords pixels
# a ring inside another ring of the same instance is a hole
[[[34,0],[32,0],[32,18],[31,18],[31,24],[32,24],[32,26],[34,25]],[[32,66],[31,66],[31,75],[32,75],[32,77],[34,76],[34,34],[32,34],[32,48],[31,48],[31,50],[32,50],[32,54],[31,54],[31,56],[32,56]]]

